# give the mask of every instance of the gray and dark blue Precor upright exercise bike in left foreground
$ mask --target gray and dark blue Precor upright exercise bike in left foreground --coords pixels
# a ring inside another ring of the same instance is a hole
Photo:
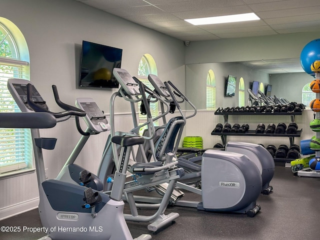
[[[31,128],[39,187],[38,209],[41,223],[47,229],[47,235],[40,239],[133,239],[123,216],[124,202],[117,198],[116,191],[108,195],[74,182],[45,179],[42,148],[53,149],[56,138],[41,138],[38,128],[52,127],[71,115],[83,116],[85,112],[75,107],[62,112],[47,111],[39,92],[30,81],[24,79],[11,78],[7,87],[22,112],[13,113],[16,115],[1,113],[1,127]],[[41,110],[39,104],[46,109],[44,112],[32,110],[32,107]],[[5,122],[2,121],[2,114],[8,114],[9,118],[3,118]],[[131,144],[135,141],[131,139]],[[121,184],[114,179],[113,186],[116,189],[121,189]],[[150,238],[150,235],[142,234],[134,239]]]

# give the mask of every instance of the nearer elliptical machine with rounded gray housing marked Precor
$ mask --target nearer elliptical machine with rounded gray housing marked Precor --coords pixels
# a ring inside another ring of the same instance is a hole
[[[153,80],[154,82],[160,84],[159,79]],[[177,93],[187,99],[172,82],[164,82],[163,85],[159,85],[158,88],[166,89],[172,98]],[[194,162],[178,158],[178,166],[183,166],[186,171],[184,179],[201,176],[201,189],[183,183],[180,179],[176,187],[200,194],[202,201],[178,199],[172,202],[173,204],[197,207],[206,211],[246,213],[250,217],[260,210],[256,199],[262,189],[262,177],[258,167],[248,156],[243,153],[209,149],[195,158]],[[195,162],[198,160],[201,161],[201,164]]]

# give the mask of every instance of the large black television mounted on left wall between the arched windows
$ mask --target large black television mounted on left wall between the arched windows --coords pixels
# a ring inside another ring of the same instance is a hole
[[[112,70],[121,67],[122,49],[82,41],[80,87],[118,87]]]

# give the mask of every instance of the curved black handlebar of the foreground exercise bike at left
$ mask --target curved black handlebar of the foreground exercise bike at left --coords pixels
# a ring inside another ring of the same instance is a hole
[[[77,111],[74,111],[74,110],[66,110],[66,111],[61,111],[61,112],[52,112],[52,111],[49,111],[48,109],[42,107],[41,105],[35,103],[32,100],[32,84],[30,84],[30,83],[28,83],[26,85],[26,92],[27,92],[26,93],[26,95],[27,95],[27,103],[35,112],[48,112],[48,113],[52,114],[56,118],[57,122],[58,121],[64,121],[64,120],[70,118],[71,115],[83,116],[82,112],[77,112]]]

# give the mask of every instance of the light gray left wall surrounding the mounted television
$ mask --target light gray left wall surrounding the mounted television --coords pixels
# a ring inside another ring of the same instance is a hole
[[[1,0],[0,16],[23,33],[30,53],[30,80],[55,108],[51,84],[61,99],[73,104],[76,97],[93,97],[105,112],[116,89],[78,89],[82,40],[122,48],[122,64],[137,74],[141,56],[153,56],[160,79],[172,80],[184,91],[183,41],[71,0]],[[128,104],[116,112],[128,112]]]

